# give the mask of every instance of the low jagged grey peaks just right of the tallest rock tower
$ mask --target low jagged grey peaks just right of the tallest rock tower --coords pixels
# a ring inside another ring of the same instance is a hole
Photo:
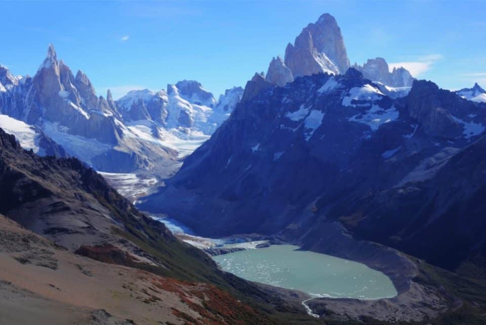
[[[362,66],[355,63],[353,67],[361,71],[365,78],[390,87],[411,87],[414,81],[410,72],[403,67],[393,68],[390,72],[386,60],[380,57],[368,59]]]

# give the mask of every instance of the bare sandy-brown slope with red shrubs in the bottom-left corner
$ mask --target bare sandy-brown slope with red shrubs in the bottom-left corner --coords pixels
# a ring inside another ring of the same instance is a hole
[[[0,263],[2,324],[259,323],[252,308],[214,285],[74,255],[2,215]]]

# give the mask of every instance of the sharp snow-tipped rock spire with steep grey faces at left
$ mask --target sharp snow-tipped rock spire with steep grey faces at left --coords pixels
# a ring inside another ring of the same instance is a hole
[[[5,106],[9,116],[28,124],[57,123],[63,132],[118,142],[120,130],[113,119],[104,112],[96,116],[100,105],[91,82],[80,71],[73,78],[69,67],[57,60],[52,44],[36,75],[15,87]]]

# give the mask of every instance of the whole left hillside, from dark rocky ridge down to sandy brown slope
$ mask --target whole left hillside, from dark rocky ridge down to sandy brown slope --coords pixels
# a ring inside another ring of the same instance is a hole
[[[0,219],[2,303],[37,306],[12,309],[5,319],[84,324],[79,319],[105,309],[139,325],[273,324],[276,306],[308,317],[297,304],[218,270],[78,160],[36,156],[1,129],[0,149],[0,213],[8,218]],[[22,311],[32,318],[16,318]]]

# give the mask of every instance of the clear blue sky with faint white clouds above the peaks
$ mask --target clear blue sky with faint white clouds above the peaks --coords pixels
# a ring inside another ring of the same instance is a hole
[[[0,63],[33,75],[53,43],[102,95],[194,79],[217,97],[326,12],[351,63],[381,56],[442,88],[486,86],[484,1],[0,2]]]

